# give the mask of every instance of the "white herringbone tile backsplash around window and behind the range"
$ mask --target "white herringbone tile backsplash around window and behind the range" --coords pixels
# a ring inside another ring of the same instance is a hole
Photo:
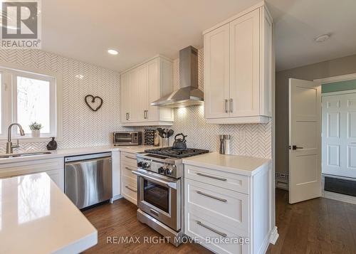
[[[199,50],[199,88],[203,84],[203,51]],[[120,125],[120,75],[112,70],[36,50],[0,50],[0,61],[50,70],[63,77],[63,141],[59,148],[110,144],[111,132],[127,130]],[[174,60],[174,89],[179,87],[179,60]],[[76,78],[83,75],[83,79]],[[103,107],[92,112],[84,103],[85,95],[103,98]],[[219,150],[219,134],[231,134],[234,154],[271,157],[271,122],[264,125],[208,125],[204,107],[174,110],[172,129],[187,134],[189,147]],[[135,128],[135,129],[143,129]],[[48,140],[49,141],[49,140]],[[171,140],[172,142],[172,140]],[[46,149],[47,142],[22,143],[21,150]],[[4,152],[5,144],[0,144]]]

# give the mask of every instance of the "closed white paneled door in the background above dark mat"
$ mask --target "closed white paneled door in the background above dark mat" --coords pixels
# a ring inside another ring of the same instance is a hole
[[[323,96],[323,174],[356,178],[356,93]]]

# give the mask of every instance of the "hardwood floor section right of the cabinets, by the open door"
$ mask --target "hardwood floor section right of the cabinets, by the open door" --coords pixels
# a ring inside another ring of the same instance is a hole
[[[267,253],[356,253],[356,205],[332,199],[288,204],[276,189],[279,238]]]

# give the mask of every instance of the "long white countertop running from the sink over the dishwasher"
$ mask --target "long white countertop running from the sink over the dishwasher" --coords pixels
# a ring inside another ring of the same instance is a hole
[[[114,152],[114,151],[122,151],[122,152],[144,152],[145,149],[153,149],[157,147],[152,146],[100,146],[100,147],[79,147],[79,148],[68,148],[68,149],[57,149],[55,151],[46,151],[51,152],[51,154],[43,154],[36,156],[27,156],[27,157],[10,157],[10,158],[1,158],[0,164],[9,163],[9,162],[26,162],[31,161],[33,159],[51,159],[56,157],[67,157],[79,154],[95,154],[100,152]],[[38,152],[38,151],[36,151]]]

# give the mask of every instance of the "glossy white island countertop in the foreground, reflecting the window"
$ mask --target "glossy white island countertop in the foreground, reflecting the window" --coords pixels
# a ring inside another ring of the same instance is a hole
[[[80,253],[98,231],[46,173],[0,179],[0,253]]]

